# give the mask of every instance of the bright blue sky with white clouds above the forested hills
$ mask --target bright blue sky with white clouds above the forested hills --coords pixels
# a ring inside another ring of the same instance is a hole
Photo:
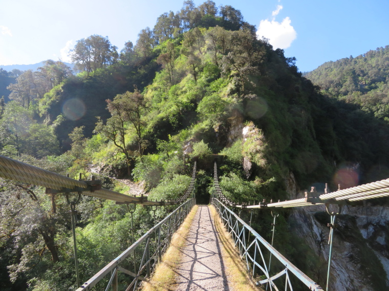
[[[296,57],[300,71],[389,45],[388,0],[214,2],[240,10],[258,34]],[[141,29],[153,28],[159,15],[182,6],[183,0],[2,0],[0,67],[67,61],[75,42],[92,34],[107,36],[121,50],[128,40],[135,44]]]

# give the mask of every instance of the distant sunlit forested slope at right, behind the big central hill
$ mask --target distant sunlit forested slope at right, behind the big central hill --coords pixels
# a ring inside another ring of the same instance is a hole
[[[327,62],[306,77],[322,93],[389,121],[389,45],[353,58]]]

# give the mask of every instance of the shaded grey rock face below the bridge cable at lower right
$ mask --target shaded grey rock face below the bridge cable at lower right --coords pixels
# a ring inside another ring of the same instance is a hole
[[[389,236],[389,211],[382,206],[368,207],[366,222],[365,207],[345,206],[338,215],[333,242],[331,264],[331,290],[385,290],[389,282],[389,257],[385,244]],[[331,211],[337,211],[337,207]],[[320,260],[321,281],[327,277],[329,256],[330,215],[325,206],[293,209],[289,217],[292,231],[304,239]],[[313,278],[315,280],[315,278]],[[326,286],[322,286],[326,287]]]

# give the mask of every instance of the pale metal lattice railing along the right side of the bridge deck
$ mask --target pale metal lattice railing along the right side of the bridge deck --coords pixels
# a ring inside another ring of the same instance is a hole
[[[289,290],[293,290],[292,282],[296,284],[296,281],[300,281],[309,290],[323,290],[220,200],[211,198],[211,204],[217,209],[227,230],[232,234],[235,247],[239,249],[241,258],[246,261],[250,275],[253,278],[259,277],[257,285],[266,286],[267,290],[288,290],[288,286]],[[274,257],[275,261],[272,262],[271,257]],[[299,285],[301,283],[297,282]]]

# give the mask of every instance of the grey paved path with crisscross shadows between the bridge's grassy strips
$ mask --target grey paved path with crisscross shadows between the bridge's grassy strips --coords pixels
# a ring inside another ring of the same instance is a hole
[[[225,272],[221,248],[208,206],[199,205],[181,249],[181,261],[176,268],[176,290],[233,290]]]

